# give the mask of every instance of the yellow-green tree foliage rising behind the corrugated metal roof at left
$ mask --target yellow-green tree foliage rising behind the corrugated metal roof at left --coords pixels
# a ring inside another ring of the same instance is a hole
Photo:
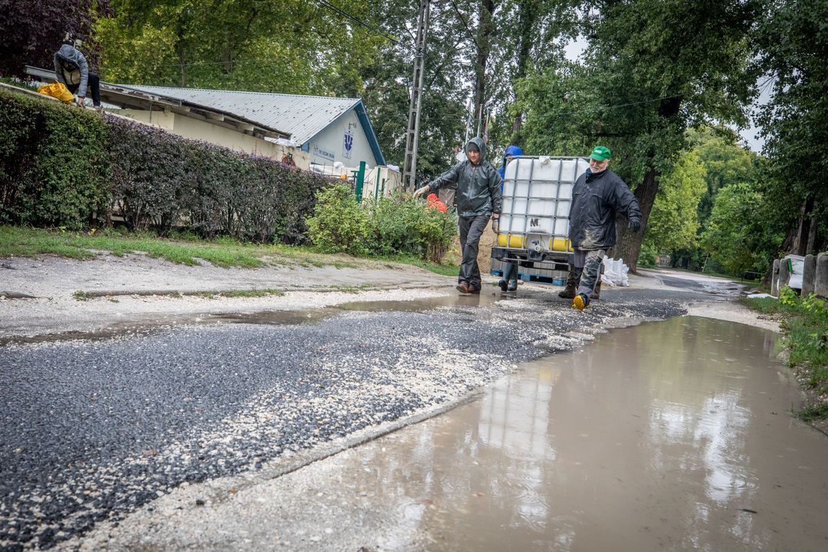
[[[369,21],[369,0],[336,2]],[[113,0],[101,19],[109,82],[349,97],[386,39],[316,2]],[[312,53],[312,55],[310,55]]]

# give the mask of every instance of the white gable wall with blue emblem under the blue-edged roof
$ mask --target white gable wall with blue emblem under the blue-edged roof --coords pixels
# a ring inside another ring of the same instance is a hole
[[[349,132],[353,137],[350,157],[346,156],[345,134]],[[365,161],[369,167],[377,166],[368,137],[363,132],[356,110],[350,109],[338,121],[330,124],[319,136],[310,141],[308,149],[310,162],[319,165],[333,165],[339,161],[344,166],[359,166],[359,161]]]

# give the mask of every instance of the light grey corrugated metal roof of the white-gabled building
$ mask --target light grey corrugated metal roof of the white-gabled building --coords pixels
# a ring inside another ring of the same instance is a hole
[[[134,84],[118,86],[233,113],[267,127],[290,132],[292,140],[300,144],[315,137],[330,122],[335,121],[360,101],[359,98],[326,98],[235,90],[177,89]]]

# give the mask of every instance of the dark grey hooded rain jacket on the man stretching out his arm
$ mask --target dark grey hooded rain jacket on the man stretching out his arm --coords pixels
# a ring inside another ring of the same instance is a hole
[[[430,192],[457,183],[457,212],[461,217],[476,217],[481,214],[500,213],[503,209],[503,194],[500,191],[498,170],[486,161],[486,146],[483,139],[474,137],[465,145],[468,156],[469,144],[474,143],[480,150],[477,166],[466,159],[445,171],[428,185]]]

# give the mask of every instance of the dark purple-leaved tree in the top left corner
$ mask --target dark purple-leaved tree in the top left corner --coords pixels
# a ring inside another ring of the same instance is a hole
[[[98,62],[93,26],[109,13],[109,0],[0,0],[0,75],[24,76],[26,65],[45,69],[66,41],[80,40],[89,64]],[[68,36],[68,39],[67,39]]]

